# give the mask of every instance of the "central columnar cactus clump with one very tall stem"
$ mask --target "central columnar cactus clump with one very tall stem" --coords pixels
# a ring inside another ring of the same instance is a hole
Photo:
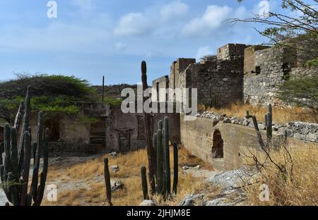
[[[143,91],[148,88],[147,84],[147,66],[146,62],[141,62],[141,80],[143,82]],[[143,102],[147,97],[143,97]],[[147,140],[147,157],[148,157],[148,178],[150,183],[151,194],[159,193],[167,197],[171,193],[170,180],[170,145],[169,145],[169,118],[165,117],[158,123],[158,132],[152,134],[151,115],[144,112],[146,140]],[[177,193],[178,181],[178,150],[177,143],[174,147],[174,179],[173,192]],[[141,183],[143,188],[143,198],[148,198],[148,186],[146,181],[146,167],[141,168]]]

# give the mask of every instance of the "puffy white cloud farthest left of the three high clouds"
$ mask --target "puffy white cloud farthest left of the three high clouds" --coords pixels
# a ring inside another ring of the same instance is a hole
[[[128,13],[119,19],[114,35],[141,35],[151,28],[150,20],[142,13]]]

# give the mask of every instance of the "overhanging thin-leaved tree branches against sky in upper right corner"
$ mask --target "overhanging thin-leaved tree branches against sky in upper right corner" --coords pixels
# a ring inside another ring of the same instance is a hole
[[[237,0],[242,2],[242,0]],[[269,1],[270,2],[270,1]],[[282,13],[269,11],[268,16],[252,14],[251,18],[229,19],[232,23],[258,23],[265,25],[259,34],[269,38],[268,45],[290,47],[300,63],[318,58],[318,11],[317,0],[283,0]]]

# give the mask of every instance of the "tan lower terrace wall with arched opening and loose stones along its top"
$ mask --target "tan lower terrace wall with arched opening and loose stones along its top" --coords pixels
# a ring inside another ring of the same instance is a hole
[[[196,118],[194,121],[184,121],[183,115],[180,116],[181,140],[182,145],[186,147],[191,154],[204,161],[207,161],[216,170],[234,170],[242,166],[242,152],[247,153],[247,148],[259,147],[254,128],[251,126],[242,126],[237,123],[238,118],[225,118],[217,116],[213,118]],[[220,120],[220,118],[223,118]],[[317,127],[313,124],[289,123],[289,130],[294,130],[293,138],[287,138],[287,144],[290,147],[299,146],[317,146],[318,133],[310,133],[307,137],[311,138],[305,142],[298,136],[297,132],[303,133],[304,128],[310,128],[306,132],[315,132]],[[317,124],[315,125],[317,126]],[[223,158],[215,158],[213,154],[213,134],[218,131],[223,140]],[[266,130],[260,130],[261,135],[266,138]],[[283,135],[278,131],[273,131],[273,139],[281,140]],[[307,140],[307,139],[306,139]]]

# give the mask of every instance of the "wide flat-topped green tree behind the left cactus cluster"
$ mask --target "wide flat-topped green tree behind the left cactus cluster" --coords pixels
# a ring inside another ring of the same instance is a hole
[[[88,81],[64,75],[25,75],[0,82],[0,118],[12,121],[23,94],[31,85],[31,104],[33,111],[47,114],[78,114],[76,102],[97,100],[96,92]]]

